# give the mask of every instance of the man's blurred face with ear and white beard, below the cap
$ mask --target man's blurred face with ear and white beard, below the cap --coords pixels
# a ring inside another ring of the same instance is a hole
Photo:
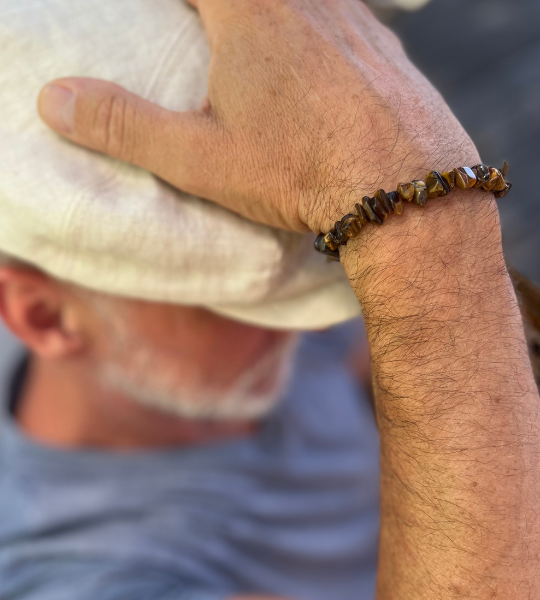
[[[3,258],[0,313],[45,361],[78,364],[105,389],[200,419],[251,419],[282,392],[296,336],[206,309],[85,290]]]

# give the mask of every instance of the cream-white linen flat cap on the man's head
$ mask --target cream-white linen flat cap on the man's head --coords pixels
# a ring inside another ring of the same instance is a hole
[[[314,236],[251,223],[61,139],[39,119],[56,77],[114,81],[172,110],[206,94],[209,49],[179,0],[0,0],[0,250],[60,279],[201,305],[268,327],[359,314]]]

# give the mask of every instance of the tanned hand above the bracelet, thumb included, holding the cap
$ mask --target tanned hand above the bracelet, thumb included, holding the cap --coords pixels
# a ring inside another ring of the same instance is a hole
[[[328,229],[379,187],[477,161],[439,94],[359,0],[198,8],[212,47],[200,110],[178,114],[71,78],[43,90],[42,117],[178,188],[299,231]]]

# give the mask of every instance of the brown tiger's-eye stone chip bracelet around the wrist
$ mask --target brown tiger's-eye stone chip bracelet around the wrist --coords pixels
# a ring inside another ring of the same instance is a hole
[[[414,200],[418,206],[425,206],[428,200],[447,196],[456,187],[462,190],[482,189],[494,193],[496,198],[504,198],[512,188],[512,184],[506,181],[507,173],[507,162],[501,171],[485,165],[459,167],[442,174],[431,171],[425,182],[415,180],[400,183],[395,192],[379,190],[373,198],[364,196],[355,205],[356,214],[345,215],[328,233],[321,233],[315,241],[315,249],[332,260],[339,260],[338,248],[346,246],[351,238],[358,236],[364,225],[382,225],[390,213],[403,214],[404,202]]]

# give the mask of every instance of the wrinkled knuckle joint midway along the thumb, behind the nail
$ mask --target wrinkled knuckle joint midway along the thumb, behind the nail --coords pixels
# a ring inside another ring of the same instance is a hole
[[[120,94],[101,100],[91,123],[93,144],[102,152],[130,161],[133,155],[131,125],[134,110]]]

